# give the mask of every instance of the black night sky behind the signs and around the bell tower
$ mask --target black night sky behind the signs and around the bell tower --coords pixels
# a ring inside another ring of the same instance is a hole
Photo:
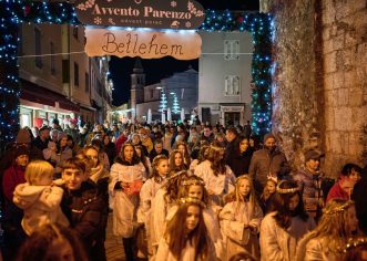
[[[204,9],[214,10],[258,10],[258,0],[196,0]],[[130,98],[130,74],[134,67],[135,58],[111,56],[110,72],[114,83],[113,105],[119,106]],[[192,66],[197,71],[198,60],[179,61],[166,56],[163,59],[142,60],[146,85],[157,83],[161,79],[183,72]]]

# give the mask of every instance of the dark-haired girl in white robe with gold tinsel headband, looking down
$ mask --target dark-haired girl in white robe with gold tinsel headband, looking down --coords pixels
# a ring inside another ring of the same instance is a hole
[[[305,211],[296,181],[281,181],[273,202],[275,211],[266,215],[261,226],[261,260],[293,261],[298,241],[315,228],[315,221]]]

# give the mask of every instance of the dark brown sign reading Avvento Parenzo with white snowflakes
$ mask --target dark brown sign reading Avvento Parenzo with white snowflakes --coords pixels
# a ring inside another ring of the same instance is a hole
[[[193,30],[205,19],[195,0],[77,0],[79,21],[90,25]]]

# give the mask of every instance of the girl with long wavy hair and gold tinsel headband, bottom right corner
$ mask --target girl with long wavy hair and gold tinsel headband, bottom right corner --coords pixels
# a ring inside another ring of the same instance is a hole
[[[344,247],[357,229],[354,201],[332,199],[315,230],[299,242],[297,260],[343,260]]]

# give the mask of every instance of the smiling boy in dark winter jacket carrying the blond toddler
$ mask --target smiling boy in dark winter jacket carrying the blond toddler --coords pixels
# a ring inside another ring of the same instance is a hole
[[[85,163],[79,158],[63,163],[61,177],[64,194],[61,208],[70,227],[81,238],[89,260],[103,261],[106,260],[103,243],[108,211],[96,185],[89,179],[85,170]]]

